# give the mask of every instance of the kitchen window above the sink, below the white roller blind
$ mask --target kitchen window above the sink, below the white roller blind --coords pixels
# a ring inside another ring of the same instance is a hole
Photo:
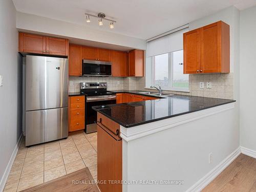
[[[188,91],[188,75],[183,74],[183,50],[152,56],[152,67],[155,86]]]

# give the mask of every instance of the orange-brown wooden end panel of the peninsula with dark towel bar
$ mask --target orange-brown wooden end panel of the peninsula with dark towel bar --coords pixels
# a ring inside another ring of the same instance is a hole
[[[97,113],[97,180],[106,181],[98,184],[101,192],[121,192],[121,184],[111,184],[110,180],[122,180],[122,140],[114,135],[120,125]],[[109,131],[111,130],[111,131]]]

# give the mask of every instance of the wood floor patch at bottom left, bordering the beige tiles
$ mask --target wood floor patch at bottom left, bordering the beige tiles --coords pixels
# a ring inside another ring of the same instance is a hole
[[[86,183],[73,183],[75,181]],[[25,189],[21,192],[99,192],[98,187],[95,183],[92,184],[92,181],[94,181],[94,179],[88,167],[86,167],[52,181],[48,181],[46,183]]]

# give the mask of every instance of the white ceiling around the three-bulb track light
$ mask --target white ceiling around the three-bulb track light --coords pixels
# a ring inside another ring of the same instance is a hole
[[[58,19],[79,25],[148,39],[221,9],[236,6],[242,10],[256,0],[13,0],[17,11]],[[114,29],[97,18],[85,21],[84,12],[104,12],[117,21]]]

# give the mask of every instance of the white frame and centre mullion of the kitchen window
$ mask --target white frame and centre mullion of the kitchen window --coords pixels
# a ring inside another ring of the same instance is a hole
[[[181,49],[182,50],[182,49]],[[177,50],[177,51],[181,51]],[[156,84],[155,79],[155,56],[151,57],[151,63],[152,63],[152,83],[154,86],[158,86]],[[189,88],[176,88],[173,87],[173,52],[168,53],[168,87],[162,87],[162,90],[167,91],[180,91],[180,92],[189,92]]]

